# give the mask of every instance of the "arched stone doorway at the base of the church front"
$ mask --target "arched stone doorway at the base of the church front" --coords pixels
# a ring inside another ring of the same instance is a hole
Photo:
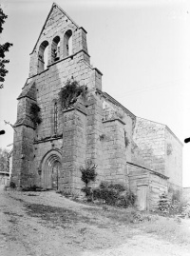
[[[59,189],[61,178],[61,153],[58,150],[50,150],[44,156],[42,169],[42,187],[48,189]]]

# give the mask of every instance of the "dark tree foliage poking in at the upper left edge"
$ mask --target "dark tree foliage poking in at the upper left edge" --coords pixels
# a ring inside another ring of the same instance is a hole
[[[0,7],[0,33],[3,31],[3,24],[5,23],[5,20],[8,18],[8,15],[6,15],[2,8]],[[0,44],[0,89],[3,89],[3,83],[5,81],[5,76],[8,73],[8,70],[6,69],[6,64],[10,62],[10,60],[5,59],[5,53],[9,51],[12,44],[9,42],[1,45]]]

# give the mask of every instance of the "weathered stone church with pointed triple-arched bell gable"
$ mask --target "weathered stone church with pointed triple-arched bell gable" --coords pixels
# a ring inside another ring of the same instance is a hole
[[[102,75],[90,65],[85,29],[53,4],[18,97],[11,181],[80,192],[80,167],[90,160],[98,173],[92,187],[123,183],[139,208],[155,207],[162,191],[182,187],[182,144],[167,126],[135,116],[104,92]],[[67,81],[87,90],[63,108]]]

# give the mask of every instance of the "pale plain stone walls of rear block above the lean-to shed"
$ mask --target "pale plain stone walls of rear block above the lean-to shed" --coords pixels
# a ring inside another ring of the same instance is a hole
[[[142,155],[143,167],[166,175],[172,187],[182,187],[182,144],[169,128],[137,117],[133,141]],[[135,153],[132,158],[133,163],[138,162]]]

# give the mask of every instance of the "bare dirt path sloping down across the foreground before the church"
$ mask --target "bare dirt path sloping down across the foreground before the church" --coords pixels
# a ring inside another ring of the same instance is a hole
[[[0,255],[190,255],[187,246],[163,242],[91,209],[55,192],[24,193],[1,187]]]

